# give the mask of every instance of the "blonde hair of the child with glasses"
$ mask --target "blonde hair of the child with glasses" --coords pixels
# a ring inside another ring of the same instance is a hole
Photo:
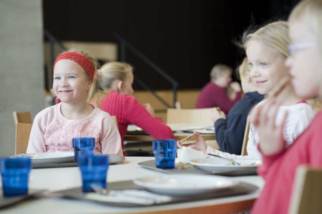
[[[322,53],[322,1],[305,0],[298,3],[289,15],[289,22],[307,19],[308,26],[317,37]]]

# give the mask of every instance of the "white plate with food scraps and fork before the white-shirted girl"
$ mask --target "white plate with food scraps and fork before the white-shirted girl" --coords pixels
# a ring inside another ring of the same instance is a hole
[[[225,172],[225,171],[235,171],[235,170],[256,170],[256,168],[262,164],[261,160],[258,159],[246,159],[246,158],[232,158],[232,160],[243,164],[243,166],[232,164],[229,160],[222,158],[202,158],[195,159],[194,161],[189,161],[190,164],[195,165],[207,172]],[[258,165],[251,165],[253,163],[258,163]]]

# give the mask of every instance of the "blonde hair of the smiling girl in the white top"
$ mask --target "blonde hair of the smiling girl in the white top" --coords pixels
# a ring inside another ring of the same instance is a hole
[[[270,47],[285,57],[289,56],[287,46],[289,45],[289,25],[286,21],[275,21],[267,24],[253,33],[246,31],[242,37],[242,44],[245,50],[252,39],[259,40],[262,44]]]

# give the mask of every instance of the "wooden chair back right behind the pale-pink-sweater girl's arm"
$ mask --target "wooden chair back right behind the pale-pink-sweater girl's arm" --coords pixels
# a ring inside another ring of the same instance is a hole
[[[16,155],[19,152],[26,153],[32,126],[31,123],[16,124]]]

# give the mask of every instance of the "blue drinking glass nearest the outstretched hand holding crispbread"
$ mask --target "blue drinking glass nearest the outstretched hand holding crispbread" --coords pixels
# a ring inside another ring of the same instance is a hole
[[[156,158],[156,167],[173,169],[175,167],[175,153],[177,144],[175,139],[153,140],[153,153]]]

